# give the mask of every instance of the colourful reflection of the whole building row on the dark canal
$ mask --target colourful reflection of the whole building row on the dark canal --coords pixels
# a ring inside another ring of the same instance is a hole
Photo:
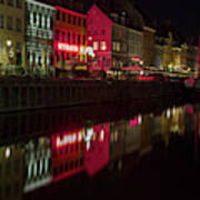
[[[198,159],[198,106],[170,107],[160,112],[134,113],[104,122],[102,118],[101,122],[97,122],[97,119],[89,121],[79,116],[78,123],[61,111],[52,116],[47,112],[30,113],[29,118],[24,114],[3,118],[4,122],[12,121],[18,130],[10,126],[11,133],[7,130],[8,136],[1,136],[0,200],[21,200],[23,193],[80,173],[87,173],[92,179],[107,167],[110,171],[124,171],[124,157],[133,154],[133,164],[138,164],[157,143],[168,148],[173,137],[192,132],[194,158]],[[33,127],[30,119],[34,121]],[[14,120],[18,120],[20,129]],[[8,123],[2,129],[6,128]],[[133,170],[132,164],[129,170]]]

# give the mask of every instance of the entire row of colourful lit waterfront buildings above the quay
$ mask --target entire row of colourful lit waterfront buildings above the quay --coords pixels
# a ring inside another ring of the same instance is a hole
[[[198,47],[156,26],[132,1],[0,0],[0,66],[91,70],[133,64],[197,70]]]

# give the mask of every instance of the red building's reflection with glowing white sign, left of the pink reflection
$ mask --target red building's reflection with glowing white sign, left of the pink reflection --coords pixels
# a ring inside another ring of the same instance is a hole
[[[53,181],[60,181],[84,169],[83,134],[84,129],[80,129],[51,138]]]

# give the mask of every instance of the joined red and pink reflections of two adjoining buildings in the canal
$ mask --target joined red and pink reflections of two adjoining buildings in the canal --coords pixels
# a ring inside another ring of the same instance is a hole
[[[109,162],[110,123],[51,137],[53,181],[86,169],[96,174]]]

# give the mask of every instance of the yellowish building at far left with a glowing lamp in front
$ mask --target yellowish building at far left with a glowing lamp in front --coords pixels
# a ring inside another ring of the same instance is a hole
[[[0,0],[0,66],[24,67],[24,0]]]

